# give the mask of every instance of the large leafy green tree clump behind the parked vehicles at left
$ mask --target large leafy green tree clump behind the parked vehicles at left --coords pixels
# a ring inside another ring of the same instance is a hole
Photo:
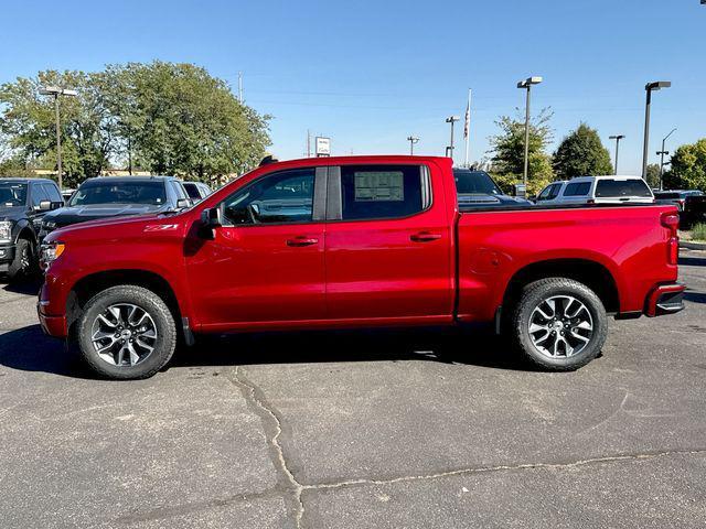
[[[76,185],[113,164],[208,181],[255,166],[269,144],[268,116],[242,105],[225,82],[192,64],[113,65],[98,73],[41,72],[0,86],[3,171],[55,169],[53,98],[60,97],[62,165]]]

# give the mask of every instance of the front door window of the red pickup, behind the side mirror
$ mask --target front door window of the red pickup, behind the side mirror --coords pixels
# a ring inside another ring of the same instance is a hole
[[[314,169],[281,171],[236,191],[223,203],[226,224],[310,223],[314,173]]]

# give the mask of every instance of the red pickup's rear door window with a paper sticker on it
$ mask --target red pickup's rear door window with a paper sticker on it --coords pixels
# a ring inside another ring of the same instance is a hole
[[[428,176],[420,165],[343,165],[343,220],[399,218],[430,204]]]

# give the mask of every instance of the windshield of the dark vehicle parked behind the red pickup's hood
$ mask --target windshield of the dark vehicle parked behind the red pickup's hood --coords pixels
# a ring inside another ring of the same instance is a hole
[[[78,187],[69,206],[94,204],[149,204],[162,205],[167,202],[162,182],[92,182]]]

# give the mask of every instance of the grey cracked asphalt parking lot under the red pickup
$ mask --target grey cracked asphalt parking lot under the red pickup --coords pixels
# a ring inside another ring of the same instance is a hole
[[[706,253],[687,310],[573,374],[427,333],[213,339],[97,380],[0,285],[0,527],[704,527]],[[448,352],[448,344],[446,347]]]

